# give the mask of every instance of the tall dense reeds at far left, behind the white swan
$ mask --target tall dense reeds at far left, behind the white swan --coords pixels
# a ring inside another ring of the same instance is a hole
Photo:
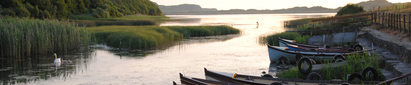
[[[85,27],[68,20],[0,17],[1,56],[28,56],[77,49],[90,43]]]

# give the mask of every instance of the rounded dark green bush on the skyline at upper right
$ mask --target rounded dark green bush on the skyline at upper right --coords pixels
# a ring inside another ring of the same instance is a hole
[[[346,6],[344,6],[343,8],[340,9],[340,11],[337,12],[337,15],[335,16],[343,16],[346,14],[357,14],[357,13],[361,13],[361,12],[365,12],[364,7],[363,6],[358,6],[356,4],[347,4]]]

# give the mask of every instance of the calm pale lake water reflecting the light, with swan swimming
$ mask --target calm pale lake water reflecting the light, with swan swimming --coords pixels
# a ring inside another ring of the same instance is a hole
[[[57,53],[71,64],[54,64],[52,54],[30,59],[0,59],[3,84],[172,84],[178,73],[205,78],[203,68],[247,75],[275,75],[267,46],[258,37],[284,32],[285,20],[333,16],[322,14],[176,15],[160,25],[229,25],[242,34],[195,37],[152,50],[118,50],[105,45]],[[257,28],[256,22],[259,23]]]

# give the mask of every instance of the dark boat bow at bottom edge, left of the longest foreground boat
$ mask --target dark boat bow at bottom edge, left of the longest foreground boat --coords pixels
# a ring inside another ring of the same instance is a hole
[[[180,80],[181,80],[181,84],[194,84],[194,85],[207,85],[207,84],[213,84],[213,85],[223,85],[223,84],[227,84],[227,85],[240,85],[238,83],[230,83],[230,82],[220,82],[220,81],[213,81],[213,80],[206,80],[206,79],[200,79],[200,78],[193,78],[193,77],[187,77],[187,76],[183,76],[183,74],[180,73]]]

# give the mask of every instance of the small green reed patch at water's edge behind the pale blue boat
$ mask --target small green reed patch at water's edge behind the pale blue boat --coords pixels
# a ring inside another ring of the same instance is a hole
[[[278,46],[278,37],[287,40],[295,40],[295,42],[299,43],[307,43],[307,39],[310,38],[309,36],[301,37],[300,33],[297,32],[283,32],[269,36],[260,36],[259,42],[263,44],[268,43],[270,45]]]

